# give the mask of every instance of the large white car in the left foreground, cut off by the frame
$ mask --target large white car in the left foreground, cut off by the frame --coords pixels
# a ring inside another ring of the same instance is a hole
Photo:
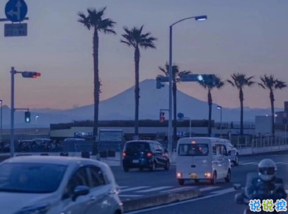
[[[110,167],[93,159],[23,156],[0,164],[1,214],[122,214]]]

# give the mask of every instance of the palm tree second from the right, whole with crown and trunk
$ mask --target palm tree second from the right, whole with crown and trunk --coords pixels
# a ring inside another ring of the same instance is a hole
[[[255,84],[255,81],[252,81],[254,78],[252,77],[246,77],[246,74],[231,74],[231,80],[227,80],[232,86],[236,86],[236,88],[239,90],[239,99],[240,99],[240,106],[241,106],[241,113],[240,113],[240,135],[243,135],[243,87],[244,86],[253,86]]]

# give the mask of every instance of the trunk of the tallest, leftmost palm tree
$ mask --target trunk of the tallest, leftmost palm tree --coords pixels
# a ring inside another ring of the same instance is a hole
[[[93,62],[94,62],[94,124],[93,124],[93,137],[98,136],[98,111],[99,111],[99,94],[100,94],[100,81],[98,69],[98,48],[99,48],[98,31],[94,29],[93,35]],[[98,144],[94,140],[93,154],[98,153]]]

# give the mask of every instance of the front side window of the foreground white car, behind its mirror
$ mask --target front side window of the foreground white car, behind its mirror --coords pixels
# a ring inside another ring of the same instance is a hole
[[[87,167],[81,167],[69,179],[65,188],[64,198],[69,198],[73,195],[76,186],[90,186],[88,181]]]

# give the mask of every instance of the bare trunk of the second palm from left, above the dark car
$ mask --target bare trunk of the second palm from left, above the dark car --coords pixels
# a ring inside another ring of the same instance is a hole
[[[139,52],[139,48],[136,47],[135,48],[135,52],[134,52],[134,62],[135,62],[135,122],[134,122],[134,134],[135,137],[138,137],[139,132],[138,132],[138,128],[139,128],[139,61],[140,61],[140,52]]]

